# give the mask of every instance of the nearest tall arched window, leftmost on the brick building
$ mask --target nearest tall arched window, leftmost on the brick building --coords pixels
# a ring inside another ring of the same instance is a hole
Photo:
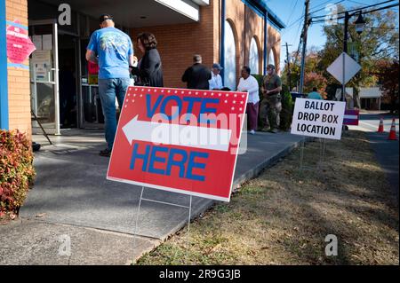
[[[236,44],[233,29],[228,20],[225,21],[225,67],[224,84],[231,90],[236,90]]]

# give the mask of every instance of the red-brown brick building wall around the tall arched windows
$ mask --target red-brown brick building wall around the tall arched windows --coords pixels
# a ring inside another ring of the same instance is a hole
[[[132,39],[140,32],[148,31],[156,35],[158,51],[163,61],[164,85],[166,87],[185,87],[180,81],[187,67],[192,65],[192,57],[198,53],[203,56],[203,63],[211,67],[213,62],[220,62],[220,0],[210,1],[209,6],[202,6],[201,19],[198,23],[172,26],[132,28]],[[227,20],[232,24],[236,35],[236,79],[240,78],[240,67],[249,65],[249,51],[252,37],[256,37],[259,46],[260,72],[264,59],[264,20],[240,0],[226,2]],[[135,54],[142,56],[133,43]],[[279,72],[281,50],[280,34],[268,25],[268,55],[273,50],[275,65]]]

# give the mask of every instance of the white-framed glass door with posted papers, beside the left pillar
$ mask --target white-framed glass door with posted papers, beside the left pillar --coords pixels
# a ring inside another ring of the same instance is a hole
[[[60,135],[60,87],[57,20],[29,21],[36,46],[29,60],[31,106],[48,134]],[[32,121],[32,132],[42,133]]]

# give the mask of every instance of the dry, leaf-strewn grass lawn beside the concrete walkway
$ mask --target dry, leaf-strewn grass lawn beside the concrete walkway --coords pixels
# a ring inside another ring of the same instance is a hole
[[[363,132],[266,169],[137,264],[399,264],[398,207]],[[268,150],[268,149],[266,149]],[[325,236],[338,238],[326,256]],[[189,240],[189,246],[188,246]]]

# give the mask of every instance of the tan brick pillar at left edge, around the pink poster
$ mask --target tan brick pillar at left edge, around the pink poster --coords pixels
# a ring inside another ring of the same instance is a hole
[[[6,19],[28,27],[28,0],[6,0]],[[28,66],[28,59],[24,62]],[[29,70],[8,67],[9,128],[31,135]]]

